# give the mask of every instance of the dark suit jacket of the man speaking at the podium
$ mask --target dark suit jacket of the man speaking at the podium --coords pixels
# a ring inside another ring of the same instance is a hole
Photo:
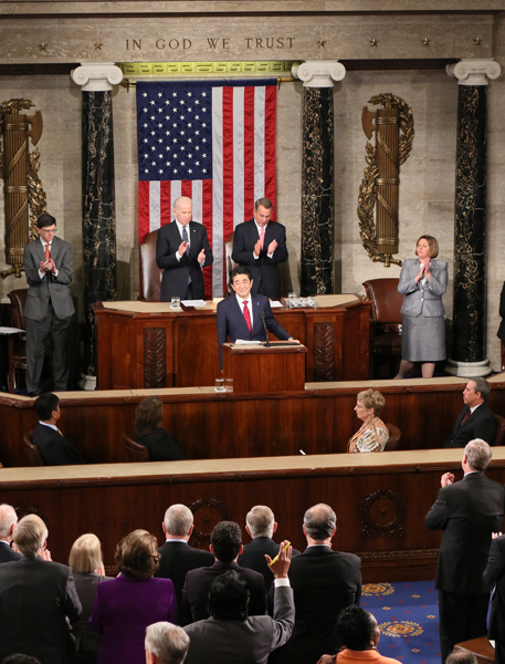
[[[242,313],[234,293],[229,298],[221,300],[221,302],[218,304],[215,325],[218,329],[219,364],[221,369],[223,365],[221,344],[225,343],[227,341],[233,343],[238,339],[266,341],[263,321],[260,318],[260,312],[262,311],[265,314],[266,329],[275,334],[277,339],[286,340],[291,336],[291,334],[288,334],[281,325],[281,323],[277,323],[277,321],[274,319],[269,298],[257,293],[255,295],[251,294],[251,298],[253,310],[253,324],[251,332],[249,331],[244,314]]]

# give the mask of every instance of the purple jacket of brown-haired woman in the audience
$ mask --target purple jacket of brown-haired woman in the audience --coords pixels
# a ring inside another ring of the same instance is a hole
[[[144,664],[146,627],[177,622],[177,600],[170,579],[138,581],[127,574],[98,583],[90,622],[102,634],[98,664]]]

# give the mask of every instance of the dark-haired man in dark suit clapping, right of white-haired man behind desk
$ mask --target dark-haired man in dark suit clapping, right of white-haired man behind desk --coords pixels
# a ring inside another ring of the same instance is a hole
[[[254,218],[235,227],[232,259],[251,270],[254,294],[280,298],[278,263],[287,260],[286,229],[282,224],[270,221],[272,210],[269,198],[256,200]]]

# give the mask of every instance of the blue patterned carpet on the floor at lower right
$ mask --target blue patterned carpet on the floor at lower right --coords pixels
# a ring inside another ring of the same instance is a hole
[[[441,664],[434,581],[367,583],[361,606],[379,623],[381,655],[406,664]]]

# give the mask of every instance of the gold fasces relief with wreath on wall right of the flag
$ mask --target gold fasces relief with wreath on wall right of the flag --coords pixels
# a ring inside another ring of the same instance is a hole
[[[401,266],[398,253],[398,204],[400,166],[412,149],[412,110],[391,93],[372,96],[369,104],[383,108],[362,110],[362,128],[367,138],[376,133],[376,145],[367,142],[367,167],[359,187],[358,217],[362,246],[374,262]]]

